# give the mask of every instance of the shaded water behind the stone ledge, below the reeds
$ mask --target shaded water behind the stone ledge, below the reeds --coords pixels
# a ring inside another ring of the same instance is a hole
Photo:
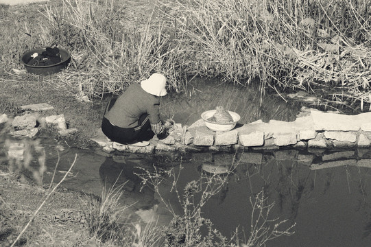
[[[260,104],[263,99],[263,104]],[[176,123],[191,125],[200,119],[205,110],[224,106],[241,116],[241,123],[262,119],[294,121],[301,103],[288,104],[274,94],[261,95],[254,87],[219,84],[215,80],[195,79],[184,93],[170,93],[161,98],[160,113],[163,118],[172,118]]]

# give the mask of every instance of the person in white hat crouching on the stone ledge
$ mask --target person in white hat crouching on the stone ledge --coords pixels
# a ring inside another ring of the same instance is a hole
[[[111,99],[106,107],[101,130],[111,141],[145,146],[154,134],[165,135],[160,119],[159,97],[165,96],[166,78],[152,74],[141,84],[134,83],[117,99]]]

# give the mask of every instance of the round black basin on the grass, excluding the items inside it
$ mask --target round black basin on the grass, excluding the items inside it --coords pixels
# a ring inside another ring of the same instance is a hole
[[[53,73],[57,73],[67,67],[69,62],[71,61],[71,55],[69,54],[69,51],[66,49],[58,48],[59,54],[62,60],[56,64],[51,64],[47,66],[33,66],[27,64],[32,59],[32,54],[38,53],[41,54],[43,51],[46,51],[46,48],[40,48],[40,49],[32,49],[29,51],[26,51],[25,54],[21,56],[19,61],[25,66],[27,72],[34,73],[36,75],[51,75]]]

